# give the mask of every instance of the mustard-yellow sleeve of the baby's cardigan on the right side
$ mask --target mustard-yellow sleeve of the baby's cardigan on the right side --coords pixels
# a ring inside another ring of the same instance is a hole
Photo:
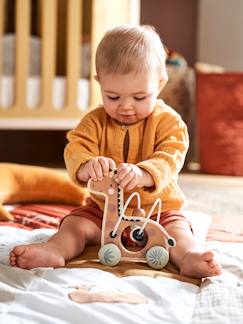
[[[166,131],[158,124],[153,154],[137,164],[153,177],[155,187],[149,188],[153,194],[160,193],[173,179],[177,179],[189,146],[187,127],[179,115],[173,116],[166,124]]]

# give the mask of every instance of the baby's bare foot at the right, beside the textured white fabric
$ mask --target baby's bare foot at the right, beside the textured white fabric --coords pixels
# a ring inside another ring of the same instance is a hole
[[[218,276],[221,271],[222,267],[214,259],[211,251],[189,251],[183,256],[180,264],[180,274],[193,278]]]

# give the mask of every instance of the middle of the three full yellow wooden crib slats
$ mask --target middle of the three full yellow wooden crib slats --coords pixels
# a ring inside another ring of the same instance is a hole
[[[41,2],[41,109],[53,115],[52,91],[56,67],[57,0]]]

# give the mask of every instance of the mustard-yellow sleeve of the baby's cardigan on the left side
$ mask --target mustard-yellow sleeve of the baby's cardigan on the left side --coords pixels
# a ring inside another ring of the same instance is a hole
[[[64,150],[66,168],[70,178],[81,186],[86,184],[77,180],[78,169],[99,155],[100,134],[101,126],[92,114],[86,116],[76,128],[67,133],[68,144]]]

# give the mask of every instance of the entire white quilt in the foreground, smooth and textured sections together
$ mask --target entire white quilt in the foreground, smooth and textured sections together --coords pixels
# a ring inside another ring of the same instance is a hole
[[[243,323],[243,244],[209,242],[218,253],[223,274],[199,288],[169,278],[118,278],[98,269],[22,270],[8,265],[16,244],[45,241],[53,230],[26,231],[0,227],[1,324],[224,324]],[[68,293],[75,284],[92,285],[91,292],[135,293],[147,304],[78,304]]]

